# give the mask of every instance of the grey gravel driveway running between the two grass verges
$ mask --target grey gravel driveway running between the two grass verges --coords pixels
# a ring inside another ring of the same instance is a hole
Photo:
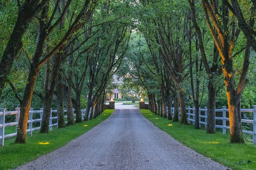
[[[226,170],[161,131],[139,109],[118,109],[66,146],[18,170]]]

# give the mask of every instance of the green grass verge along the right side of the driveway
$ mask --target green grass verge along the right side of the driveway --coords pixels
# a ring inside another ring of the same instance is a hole
[[[230,144],[230,135],[206,134],[193,125],[181,125],[157,115],[148,109],[140,109],[142,115],[162,131],[204,156],[220,162],[233,170],[256,170],[256,146],[252,143]]]

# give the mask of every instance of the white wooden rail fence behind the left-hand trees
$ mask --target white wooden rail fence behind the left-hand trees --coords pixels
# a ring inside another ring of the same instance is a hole
[[[27,133],[29,133],[30,135],[32,135],[33,131],[36,131],[36,130],[40,129],[41,123],[42,123],[43,111],[44,111],[44,108],[40,108],[40,110],[33,110],[33,108],[30,108],[29,117],[28,117],[28,129],[27,129]],[[84,116],[85,116],[85,113],[86,113],[86,108],[82,109],[81,111],[82,111],[82,119],[84,119]],[[90,107],[90,111],[89,111],[89,115],[88,115],[89,118],[90,118],[91,111],[92,111],[92,107]],[[66,112],[66,110],[64,110],[64,112]],[[75,112],[75,109],[73,109],[73,113],[74,112]],[[5,123],[5,116],[6,115],[16,115],[15,122]],[[35,115],[38,115],[37,117],[40,117],[40,118],[33,119],[33,115],[34,115],[34,117],[35,117]],[[20,116],[20,108],[19,107],[15,108],[15,111],[6,111],[6,109],[0,108],[0,146],[4,146],[4,139],[7,139],[9,137],[14,137],[14,136],[17,135],[19,116]],[[74,117],[75,116],[76,116],[76,114],[74,114]],[[64,117],[66,118],[67,115],[65,115]],[[56,120],[55,121],[56,123],[52,123],[54,119]],[[76,118],[75,118],[75,120],[76,120]],[[33,127],[32,125],[35,122],[40,122],[40,126]],[[68,121],[65,121],[65,123],[68,123]],[[10,126],[16,126],[16,132],[5,134],[4,133],[5,127],[10,127]],[[53,126],[58,127],[58,116],[57,116],[57,110],[51,109],[50,123],[49,123],[50,131],[52,131]]]

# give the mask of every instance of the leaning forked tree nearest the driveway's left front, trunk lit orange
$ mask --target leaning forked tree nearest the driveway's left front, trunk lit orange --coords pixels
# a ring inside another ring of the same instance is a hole
[[[27,128],[27,121],[28,121],[28,113],[29,113],[29,109],[30,109],[34,85],[36,82],[36,77],[40,71],[40,67],[46,61],[48,61],[50,59],[50,57],[52,57],[52,55],[54,55],[61,49],[61,47],[72,37],[73,33],[78,31],[78,29],[80,29],[80,27],[82,27],[82,25],[84,25],[84,23],[86,21],[88,21],[88,19],[91,17],[92,12],[95,8],[96,2],[97,1],[91,2],[90,0],[85,1],[84,6],[80,10],[80,13],[76,17],[76,19],[74,20],[74,22],[72,23],[70,28],[68,29],[68,31],[66,31],[65,35],[62,38],[60,38],[61,40],[52,49],[52,51],[50,51],[49,53],[47,53],[47,55],[42,57],[44,43],[45,43],[46,38],[48,37],[48,34],[51,33],[52,31],[54,31],[54,28],[56,28],[56,26],[59,25],[60,21],[61,21],[59,19],[52,26],[49,26],[52,24],[54,15],[52,15],[51,16],[52,18],[50,18],[48,20],[48,18],[47,18],[48,17],[47,16],[47,11],[48,11],[47,8],[48,7],[44,8],[44,12],[42,12],[42,14],[41,14],[41,16],[44,20],[40,20],[40,24],[39,24],[39,28],[38,28],[38,30],[39,30],[38,41],[36,43],[36,49],[35,49],[34,55],[32,57],[32,61],[30,63],[30,72],[28,75],[28,83],[26,85],[24,97],[23,97],[23,100],[21,103],[20,120],[19,120],[19,124],[18,124],[18,131],[17,131],[15,143],[25,143],[26,142],[26,128]],[[66,10],[68,10],[68,8],[66,8]],[[56,12],[56,10],[53,11],[53,13],[55,13],[55,12]],[[62,13],[62,14],[63,14],[62,15],[62,17],[63,17],[64,13]],[[81,21],[82,19],[84,21]],[[46,26],[48,26],[48,27],[46,27]],[[49,28],[49,29],[46,29],[46,28]],[[41,57],[42,57],[42,59],[41,59]]]

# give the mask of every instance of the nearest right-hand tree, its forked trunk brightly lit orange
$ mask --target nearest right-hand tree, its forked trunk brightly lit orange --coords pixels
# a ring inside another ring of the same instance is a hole
[[[238,85],[236,86],[232,53],[240,29],[236,27],[234,20],[230,20],[229,10],[224,4],[218,4],[218,1],[211,1],[210,4],[208,0],[202,0],[202,6],[206,16],[207,25],[212,33],[212,37],[222,59],[222,71],[224,74],[230,119],[230,142],[244,143],[240,109],[241,95],[248,71],[248,59],[250,57],[249,43],[251,42],[247,39],[242,74]],[[221,12],[219,9],[221,9]],[[212,24],[217,33],[215,33]]]

